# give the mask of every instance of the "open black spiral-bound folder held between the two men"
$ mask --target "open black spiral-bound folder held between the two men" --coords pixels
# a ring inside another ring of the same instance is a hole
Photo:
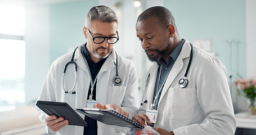
[[[143,129],[143,125],[134,122],[127,116],[118,113],[114,109],[76,109],[79,113],[82,113],[92,119],[98,120],[107,125],[117,125],[119,127],[127,127],[131,129]]]

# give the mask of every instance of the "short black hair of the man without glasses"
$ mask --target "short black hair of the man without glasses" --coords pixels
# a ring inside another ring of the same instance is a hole
[[[170,24],[174,25],[176,29],[175,19],[172,13],[165,7],[155,6],[148,8],[138,16],[137,22],[149,19],[150,17],[156,17],[163,29],[168,28]]]

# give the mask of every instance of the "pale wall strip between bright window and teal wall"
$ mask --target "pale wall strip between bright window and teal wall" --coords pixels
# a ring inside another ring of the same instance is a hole
[[[26,8],[25,100],[37,100],[50,66],[49,7]]]

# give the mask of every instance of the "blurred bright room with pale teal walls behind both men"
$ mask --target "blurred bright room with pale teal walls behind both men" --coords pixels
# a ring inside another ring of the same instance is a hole
[[[101,4],[118,15],[114,49],[136,65],[140,93],[152,63],[136,37],[136,20],[147,8],[164,6],[181,38],[223,62],[235,113],[246,111],[234,81],[256,77],[254,0],[0,0],[0,134],[45,134],[34,106],[44,78],[57,57],[86,43],[86,15]],[[255,128],[240,134],[256,134]]]

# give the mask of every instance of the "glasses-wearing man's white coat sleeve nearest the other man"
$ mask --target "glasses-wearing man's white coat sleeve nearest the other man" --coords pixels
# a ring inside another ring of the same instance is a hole
[[[138,113],[140,105],[138,95],[138,75],[135,66],[129,72],[129,79],[125,96],[122,102],[122,109],[129,113],[129,118]]]

